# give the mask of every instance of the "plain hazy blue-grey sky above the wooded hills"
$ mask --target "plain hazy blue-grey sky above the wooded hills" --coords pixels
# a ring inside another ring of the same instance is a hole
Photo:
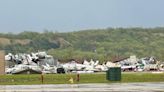
[[[164,0],[0,0],[0,32],[164,27]]]

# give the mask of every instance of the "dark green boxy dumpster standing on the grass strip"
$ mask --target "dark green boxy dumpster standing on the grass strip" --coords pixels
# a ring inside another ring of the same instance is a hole
[[[121,81],[121,67],[110,67],[106,72],[106,79],[110,81]]]

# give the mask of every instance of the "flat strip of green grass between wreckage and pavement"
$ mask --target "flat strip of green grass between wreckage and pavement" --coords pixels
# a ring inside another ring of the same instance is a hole
[[[72,77],[74,83],[113,83],[106,80],[106,74],[80,74],[80,81],[76,81],[76,74],[45,74],[43,84],[70,84]],[[122,73],[120,83],[125,82],[164,82],[164,73]],[[41,75],[1,75],[0,85],[30,85],[42,84]]]

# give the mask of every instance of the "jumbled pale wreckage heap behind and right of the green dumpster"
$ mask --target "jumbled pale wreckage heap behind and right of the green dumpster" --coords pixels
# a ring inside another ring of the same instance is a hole
[[[138,59],[136,56],[118,59],[114,61],[121,66],[122,71],[157,71],[161,70],[160,62],[155,57],[144,57]]]

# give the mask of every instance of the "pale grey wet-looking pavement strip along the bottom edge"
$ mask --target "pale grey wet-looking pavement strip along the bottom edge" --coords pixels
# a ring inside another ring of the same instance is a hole
[[[164,82],[109,84],[0,85],[2,92],[164,92]]]

